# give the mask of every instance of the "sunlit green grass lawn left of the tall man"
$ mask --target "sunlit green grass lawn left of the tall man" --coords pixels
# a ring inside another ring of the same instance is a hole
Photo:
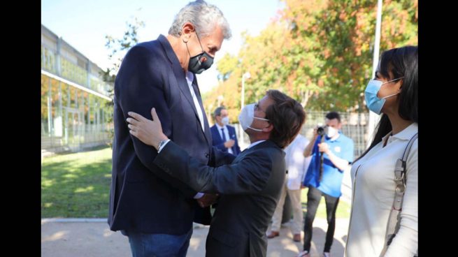
[[[111,148],[60,154],[41,162],[41,217],[106,218]]]

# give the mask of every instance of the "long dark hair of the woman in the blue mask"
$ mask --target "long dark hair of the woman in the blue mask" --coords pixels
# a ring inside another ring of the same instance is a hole
[[[418,123],[418,47],[405,46],[383,52],[380,56],[379,67],[380,71],[378,72],[389,80],[404,77],[401,79],[398,113],[401,118]],[[392,76],[389,75],[390,73]],[[382,114],[380,122],[375,127],[377,132],[371,145],[355,161],[366,155],[392,129],[388,116]]]

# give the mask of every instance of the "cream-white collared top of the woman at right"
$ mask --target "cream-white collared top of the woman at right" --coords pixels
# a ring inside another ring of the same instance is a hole
[[[396,135],[389,133],[353,163],[352,214],[345,256],[380,256],[395,195],[394,166],[417,131],[418,125],[413,123]],[[382,147],[386,139],[387,145]],[[406,165],[401,226],[385,257],[413,256],[418,248],[418,140],[413,142]]]

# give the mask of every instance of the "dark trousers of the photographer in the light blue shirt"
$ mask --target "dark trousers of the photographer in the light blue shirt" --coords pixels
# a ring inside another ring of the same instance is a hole
[[[338,197],[332,197],[316,189],[313,186],[308,187],[307,193],[307,214],[306,223],[303,227],[303,250],[310,252],[310,244],[312,243],[313,220],[317,214],[318,205],[320,205],[321,196],[324,196],[326,201],[326,217],[328,221],[328,229],[326,232],[326,242],[324,243],[324,251],[331,251],[332,241],[334,240],[334,230],[336,230],[336,210],[338,205]]]

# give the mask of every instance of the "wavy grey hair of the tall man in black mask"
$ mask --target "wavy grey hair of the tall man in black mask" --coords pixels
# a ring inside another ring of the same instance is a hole
[[[203,0],[189,2],[185,7],[181,8],[180,12],[175,15],[169,34],[180,36],[181,29],[186,22],[191,22],[194,25],[201,38],[210,35],[216,25],[221,28],[224,39],[229,39],[232,36],[229,23],[222,11]]]

